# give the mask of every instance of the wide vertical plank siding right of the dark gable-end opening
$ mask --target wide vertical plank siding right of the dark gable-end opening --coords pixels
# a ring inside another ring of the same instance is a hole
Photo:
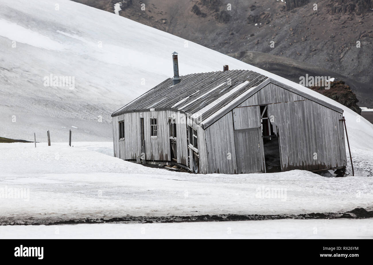
[[[268,115],[279,129],[283,171],[346,165],[341,113],[305,100],[269,104]]]

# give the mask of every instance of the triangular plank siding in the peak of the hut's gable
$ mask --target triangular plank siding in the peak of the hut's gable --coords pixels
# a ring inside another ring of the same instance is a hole
[[[253,106],[253,105],[264,105],[279,102],[306,100],[306,98],[301,97],[293,92],[276,86],[272,83],[264,86],[250,98],[238,105],[238,107]]]

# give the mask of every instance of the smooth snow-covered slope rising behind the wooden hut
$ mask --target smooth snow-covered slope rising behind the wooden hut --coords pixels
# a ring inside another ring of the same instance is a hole
[[[331,102],[345,110],[353,148],[373,146],[372,124],[317,92],[69,0],[58,1],[58,6],[49,0],[0,0],[0,47],[1,136],[33,140],[36,132],[45,141],[49,129],[52,141],[66,141],[72,129],[76,141],[111,140],[110,114],[172,76],[171,53],[177,51],[181,75],[229,64],[230,69],[254,70]],[[44,86],[43,78],[51,74],[75,77],[75,88]]]

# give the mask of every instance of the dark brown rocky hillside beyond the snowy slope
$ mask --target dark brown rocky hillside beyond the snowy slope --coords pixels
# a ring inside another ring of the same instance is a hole
[[[276,68],[276,74],[293,81],[307,73],[334,73],[350,85],[361,106],[373,107],[373,0],[320,0],[317,6],[309,0],[75,1],[109,12],[120,3],[121,16],[265,70]],[[297,67],[289,69],[289,63]]]

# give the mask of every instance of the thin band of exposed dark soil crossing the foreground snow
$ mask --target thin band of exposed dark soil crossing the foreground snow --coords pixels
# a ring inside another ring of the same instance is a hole
[[[221,215],[194,215],[194,216],[130,216],[117,218],[100,218],[100,219],[76,219],[76,220],[50,220],[50,219],[24,219],[12,220],[11,218],[0,218],[0,225],[61,225],[61,224],[96,224],[96,223],[182,223],[182,222],[223,222],[223,221],[251,221],[251,220],[278,220],[278,219],[338,219],[338,218],[373,218],[373,211],[367,211],[364,208],[355,208],[349,212],[326,212],[310,214],[278,214],[278,215],[238,215],[238,214],[221,214]]]

